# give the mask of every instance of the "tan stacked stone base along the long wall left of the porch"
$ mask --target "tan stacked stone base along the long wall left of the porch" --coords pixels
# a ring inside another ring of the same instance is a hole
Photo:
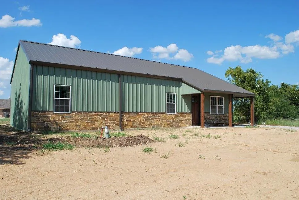
[[[122,128],[158,128],[191,126],[191,113],[122,113]],[[119,129],[118,112],[32,112],[33,131],[81,131],[99,130],[102,126]]]

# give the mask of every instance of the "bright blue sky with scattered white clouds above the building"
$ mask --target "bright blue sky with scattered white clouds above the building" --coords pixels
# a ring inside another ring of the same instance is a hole
[[[18,41],[110,52],[196,67],[228,67],[299,83],[299,1],[3,1],[0,98]],[[71,36],[72,35],[72,36]]]

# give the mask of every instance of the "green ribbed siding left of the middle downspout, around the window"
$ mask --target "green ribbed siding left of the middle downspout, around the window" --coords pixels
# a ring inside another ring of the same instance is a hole
[[[32,110],[53,111],[54,84],[71,85],[71,111],[119,111],[118,74],[33,66]]]

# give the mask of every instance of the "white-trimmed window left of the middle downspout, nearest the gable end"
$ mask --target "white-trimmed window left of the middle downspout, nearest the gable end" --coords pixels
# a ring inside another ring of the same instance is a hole
[[[71,86],[54,85],[54,113],[71,112]]]

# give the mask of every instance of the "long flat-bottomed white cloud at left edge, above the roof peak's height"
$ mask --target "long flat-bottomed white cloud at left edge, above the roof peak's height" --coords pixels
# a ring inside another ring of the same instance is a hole
[[[15,21],[14,17],[10,15],[3,15],[0,19],[0,27],[7,28],[7,27],[15,27],[15,26],[23,26],[23,27],[31,27],[31,26],[41,26],[39,19],[22,19]]]

